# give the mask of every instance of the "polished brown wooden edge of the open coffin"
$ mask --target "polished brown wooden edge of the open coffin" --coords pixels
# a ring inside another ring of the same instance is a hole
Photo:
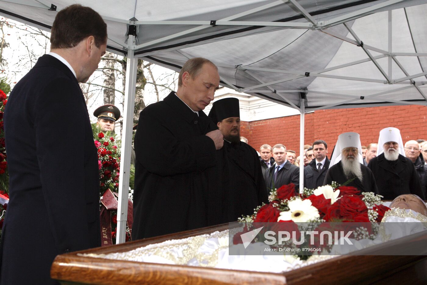
[[[307,282],[331,284],[371,284],[383,278],[398,274],[399,271],[426,261],[427,256],[374,255],[389,253],[390,249],[401,246],[402,242],[421,244],[427,251],[427,231],[399,238],[358,251],[359,255],[339,256],[316,264],[307,265],[284,273],[266,273],[245,270],[228,270],[210,267],[194,267],[175,264],[141,263],[136,261],[100,259],[79,256],[79,253],[108,254],[133,250],[148,244],[170,239],[187,238],[193,235],[210,234],[228,229],[228,224],[210,226],[176,234],[163,235],[138,241],[131,241],[113,247],[98,247],[90,250],[56,256],[51,268],[53,279],[83,284],[288,284],[299,285]],[[403,249],[402,249],[403,250]],[[404,251],[402,251],[404,253]],[[360,255],[366,254],[366,255]],[[427,253],[424,253],[427,254]],[[88,264],[88,260],[90,263]],[[369,265],[368,265],[369,264]],[[368,266],[368,267],[367,267]],[[336,272],[336,268],[340,271]],[[394,270],[394,272],[393,272]],[[392,273],[393,272],[393,273]],[[427,274],[427,273],[424,273]],[[88,283],[88,276],[90,281]]]

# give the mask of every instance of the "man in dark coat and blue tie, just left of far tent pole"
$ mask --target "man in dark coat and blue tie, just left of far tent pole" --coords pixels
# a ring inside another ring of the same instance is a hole
[[[286,147],[283,144],[276,144],[273,147],[273,158],[275,164],[264,175],[267,189],[271,190],[293,183],[295,184],[295,191],[297,191],[299,188],[299,167],[286,160]]]

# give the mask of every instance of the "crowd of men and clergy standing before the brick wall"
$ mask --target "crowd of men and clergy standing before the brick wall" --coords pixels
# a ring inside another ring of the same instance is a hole
[[[358,133],[346,132],[339,135],[331,160],[327,153],[328,144],[323,140],[304,146],[304,188],[337,182],[380,194],[384,200],[401,194],[427,197],[427,141],[423,139],[403,144],[400,130],[389,127],[380,131],[379,143],[363,147]],[[298,188],[299,161],[283,144],[260,147],[260,164],[269,188],[289,183]],[[286,175],[281,174],[282,168]]]

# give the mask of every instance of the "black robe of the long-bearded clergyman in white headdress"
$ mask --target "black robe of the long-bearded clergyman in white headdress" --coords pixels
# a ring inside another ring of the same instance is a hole
[[[353,179],[353,177],[351,177],[353,180],[348,182],[348,180],[351,179],[348,179],[345,176],[344,170],[342,169],[342,162],[339,161],[335,165],[329,167],[323,185],[330,185],[332,181],[335,181],[341,185],[345,182],[348,182],[346,186],[356,187],[358,190],[360,190],[360,192],[374,192],[375,194],[378,194],[377,183],[375,183],[375,178],[372,174],[372,171],[363,164],[360,164],[360,169],[362,170],[363,181],[361,182],[359,178]]]

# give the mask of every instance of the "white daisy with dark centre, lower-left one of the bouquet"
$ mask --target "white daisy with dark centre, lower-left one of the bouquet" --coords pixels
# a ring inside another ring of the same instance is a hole
[[[289,211],[281,212],[279,220],[293,220],[294,222],[307,222],[308,220],[314,220],[318,217],[319,211],[316,207],[311,205],[310,200],[301,200],[297,198],[288,203]]]

